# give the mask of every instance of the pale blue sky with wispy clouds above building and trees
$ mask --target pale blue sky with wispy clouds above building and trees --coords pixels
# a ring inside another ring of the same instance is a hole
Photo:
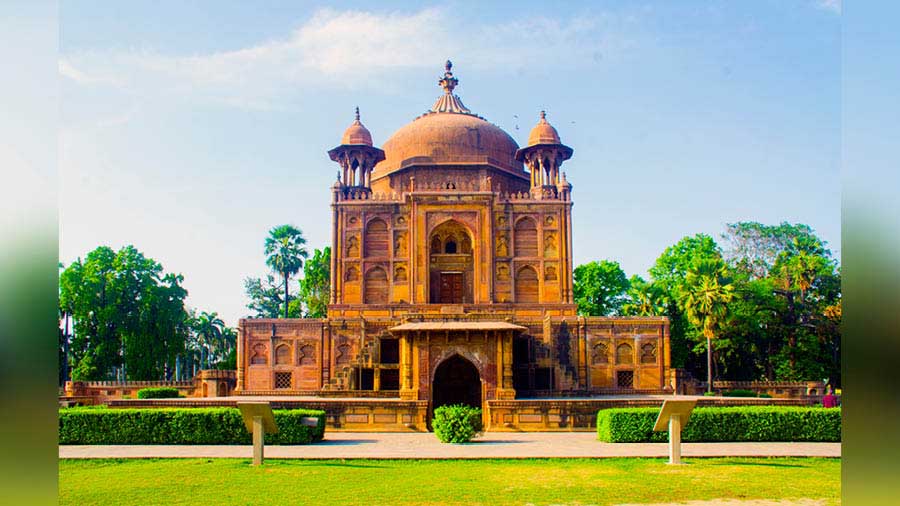
[[[802,222],[840,254],[841,5],[63,2],[60,257],[134,244],[229,324],[267,230],[330,241],[325,152],[457,94],[575,154],[575,262],[646,273],[725,223]]]

